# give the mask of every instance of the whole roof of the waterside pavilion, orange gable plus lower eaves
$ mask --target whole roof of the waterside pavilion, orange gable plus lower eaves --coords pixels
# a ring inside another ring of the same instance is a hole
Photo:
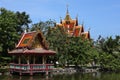
[[[33,31],[24,33],[18,42],[16,49],[9,53],[15,55],[53,55],[56,52],[48,49],[48,45],[41,31]]]

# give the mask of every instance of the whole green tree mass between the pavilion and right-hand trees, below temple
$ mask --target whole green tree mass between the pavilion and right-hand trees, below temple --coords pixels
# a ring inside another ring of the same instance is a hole
[[[49,28],[47,40],[50,48],[57,51],[55,61],[60,65],[66,64],[84,65],[94,61],[91,55],[94,52],[92,42],[82,37],[69,37],[63,28]]]

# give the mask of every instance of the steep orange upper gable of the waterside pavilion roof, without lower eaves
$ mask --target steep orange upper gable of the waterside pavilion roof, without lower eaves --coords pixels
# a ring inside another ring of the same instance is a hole
[[[44,48],[47,49],[47,44],[43,34],[38,31],[24,33],[17,44],[16,48]]]

